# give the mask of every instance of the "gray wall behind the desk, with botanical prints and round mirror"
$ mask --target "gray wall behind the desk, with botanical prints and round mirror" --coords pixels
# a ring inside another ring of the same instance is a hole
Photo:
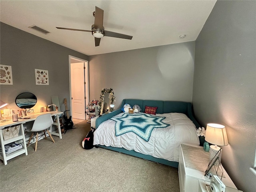
[[[68,55],[84,60],[88,60],[88,56],[2,22],[0,30],[0,64],[12,66],[13,85],[0,86],[0,98],[9,103],[8,108],[18,109],[15,98],[22,92],[36,95],[35,112],[51,104],[51,96],[55,95],[59,96],[62,111],[65,110],[64,98],[70,106]],[[36,85],[35,68],[48,70],[49,85]]]

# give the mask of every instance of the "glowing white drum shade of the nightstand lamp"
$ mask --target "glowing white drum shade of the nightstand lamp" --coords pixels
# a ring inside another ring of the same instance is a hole
[[[215,123],[208,123],[206,126],[205,140],[218,146],[228,145],[228,137],[225,126]]]

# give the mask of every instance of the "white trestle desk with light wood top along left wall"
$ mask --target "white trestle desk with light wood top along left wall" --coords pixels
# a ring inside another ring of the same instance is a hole
[[[46,113],[50,113],[51,116],[55,116],[57,122],[54,122],[53,124],[56,125],[58,127],[58,132],[52,132],[52,126],[50,127],[50,132],[52,135],[56,135],[59,136],[60,139],[62,139],[62,135],[61,135],[61,129],[60,129],[60,120],[59,120],[59,115],[63,114],[63,112],[61,111],[50,111],[50,112],[44,112],[44,113],[36,113],[34,115],[31,116],[26,116],[29,117],[29,119],[19,119],[17,122],[13,122],[12,120],[10,121],[6,121],[6,122],[0,122],[0,140],[1,140],[1,148],[2,148],[2,155],[0,155],[0,159],[3,160],[4,165],[7,164],[7,160],[10,160],[18,155],[21,154],[26,154],[28,155],[28,151],[26,148],[26,140],[25,140],[25,134],[24,134],[24,126],[23,124],[25,124],[26,122],[30,122],[30,121],[34,121],[36,120],[36,117],[42,114],[46,114]],[[14,138],[10,138],[8,140],[4,140],[3,137],[3,133],[2,133],[2,129],[9,127],[9,126],[13,126],[13,125],[20,125],[20,130],[21,130],[21,135],[19,134],[17,137]],[[5,150],[4,150],[4,145],[15,142],[17,140],[22,140],[23,141],[23,148],[20,150],[17,150],[15,152],[12,152],[11,154],[6,155]]]

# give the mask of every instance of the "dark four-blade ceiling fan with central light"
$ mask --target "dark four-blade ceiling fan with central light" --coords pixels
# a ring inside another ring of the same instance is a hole
[[[121,33],[111,32],[104,30],[103,26],[103,10],[101,8],[98,8],[95,6],[95,11],[93,12],[94,16],[94,24],[92,25],[92,30],[83,30],[83,29],[72,29],[72,28],[64,28],[64,27],[56,27],[57,29],[66,29],[66,30],[73,30],[73,31],[85,31],[85,32],[91,32],[94,36],[95,40],[95,46],[100,45],[100,38],[104,36],[108,37],[116,37],[116,38],[122,38],[122,39],[132,39],[132,36],[125,35]]]

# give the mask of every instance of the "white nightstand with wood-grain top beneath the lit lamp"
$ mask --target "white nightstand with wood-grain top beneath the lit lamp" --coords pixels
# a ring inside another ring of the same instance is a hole
[[[206,191],[205,184],[210,184],[210,179],[204,176],[209,163],[209,152],[201,146],[180,144],[179,183],[180,192]],[[221,170],[219,168],[219,170]],[[239,191],[222,167],[222,182],[226,185],[226,192]],[[222,172],[221,170],[221,172]],[[214,174],[214,168],[212,169]]]

